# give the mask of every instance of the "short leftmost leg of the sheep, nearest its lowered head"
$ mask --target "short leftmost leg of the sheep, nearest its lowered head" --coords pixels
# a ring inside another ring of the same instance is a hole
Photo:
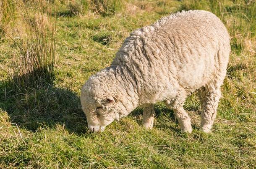
[[[142,119],[143,126],[146,127],[147,129],[152,129],[154,124],[154,116],[155,116],[154,106],[150,105],[148,107],[145,107],[143,110],[143,119]]]

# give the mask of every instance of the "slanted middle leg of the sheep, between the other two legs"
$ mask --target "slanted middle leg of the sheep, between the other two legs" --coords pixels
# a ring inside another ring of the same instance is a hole
[[[186,133],[191,133],[192,132],[191,121],[188,114],[184,110],[184,108],[182,106],[176,107],[176,108],[173,108],[173,111],[176,118],[179,121],[181,131]]]

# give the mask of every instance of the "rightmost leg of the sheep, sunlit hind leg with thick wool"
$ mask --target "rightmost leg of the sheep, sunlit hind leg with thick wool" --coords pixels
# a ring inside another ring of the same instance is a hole
[[[220,88],[203,87],[199,92],[199,99],[202,107],[200,129],[206,133],[209,133],[212,129],[220,97]]]

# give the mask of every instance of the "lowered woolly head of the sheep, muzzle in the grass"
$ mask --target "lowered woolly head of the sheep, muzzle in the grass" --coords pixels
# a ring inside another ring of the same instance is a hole
[[[108,124],[120,118],[121,111],[125,111],[123,104],[114,96],[114,85],[92,76],[82,87],[81,105],[90,131],[103,131]]]

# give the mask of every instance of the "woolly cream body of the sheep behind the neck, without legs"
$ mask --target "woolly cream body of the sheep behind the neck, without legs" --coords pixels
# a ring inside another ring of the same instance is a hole
[[[135,30],[112,64],[126,66],[141,91],[154,93],[168,86],[193,91],[223,76],[229,53],[230,38],[221,20],[193,10]]]

